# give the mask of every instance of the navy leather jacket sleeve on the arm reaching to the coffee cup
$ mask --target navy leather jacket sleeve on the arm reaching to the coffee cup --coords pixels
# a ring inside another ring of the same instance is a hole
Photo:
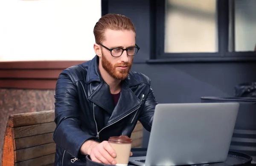
[[[80,129],[77,88],[67,70],[61,72],[55,88],[55,123],[53,140],[70,155],[78,158],[81,145],[96,137]]]

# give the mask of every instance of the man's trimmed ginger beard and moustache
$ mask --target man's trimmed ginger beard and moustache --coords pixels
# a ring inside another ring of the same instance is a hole
[[[130,70],[131,70],[131,64],[133,62],[133,59],[131,62],[123,62],[123,63],[116,63],[112,64],[108,61],[108,59],[102,54],[102,67],[108,72],[110,76],[112,76],[114,79],[124,80],[127,78]],[[127,66],[127,69],[125,70],[119,70],[116,68],[117,66]]]

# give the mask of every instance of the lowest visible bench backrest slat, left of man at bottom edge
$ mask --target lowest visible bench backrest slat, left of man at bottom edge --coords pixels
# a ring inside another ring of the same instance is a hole
[[[55,154],[15,163],[16,166],[53,166]]]

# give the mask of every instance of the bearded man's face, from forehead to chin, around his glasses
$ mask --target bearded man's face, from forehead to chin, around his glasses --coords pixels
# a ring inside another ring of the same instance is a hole
[[[107,48],[128,48],[135,46],[135,34],[133,31],[105,31],[105,40],[101,43]],[[124,51],[121,56],[113,57],[111,52],[101,47],[102,51],[102,67],[114,79],[124,80],[131,69],[134,56],[128,56]]]

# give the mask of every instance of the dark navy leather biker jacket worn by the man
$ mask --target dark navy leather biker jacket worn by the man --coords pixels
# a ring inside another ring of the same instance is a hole
[[[101,78],[99,58],[67,68],[58,77],[55,89],[55,166],[84,165],[81,145],[111,136],[131,136],[139,120],[151,130],[157,101],[150,79],[131,72],[122,81],[119,101],[114,106],[108,84]]]

